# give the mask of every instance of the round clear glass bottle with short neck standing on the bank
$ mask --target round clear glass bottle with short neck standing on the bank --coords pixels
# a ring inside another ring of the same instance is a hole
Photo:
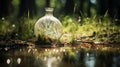
[[[53,16],[53,8],[46,8],[46,14],[40,18],[34,28],[35,36],[59,39],[62,34],[61,22]]]

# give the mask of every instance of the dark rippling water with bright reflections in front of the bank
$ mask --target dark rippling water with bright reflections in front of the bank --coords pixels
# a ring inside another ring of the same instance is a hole
[[[0,50],[0,67],[120,67],[120,52],[64,48]]]

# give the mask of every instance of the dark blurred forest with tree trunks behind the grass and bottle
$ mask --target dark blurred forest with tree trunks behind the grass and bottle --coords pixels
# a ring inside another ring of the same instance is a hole
[[[120,0],[0,0],[0,18],[42,16],[45,7],[54,7],[55,15],[103,16],[120,19]]]

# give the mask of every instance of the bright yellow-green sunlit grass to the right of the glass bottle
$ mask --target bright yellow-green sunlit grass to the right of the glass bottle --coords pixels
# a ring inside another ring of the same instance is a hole
[[[71,40],[92,36],[95,38],[93,41],[112,42],[111,38],[113,41],[119,41],[119,38],[115,39],[115,37],[119,37],[119,34],[115,35],[115,33],[119,33],[119,26],[115,25],[107,14],[103,18],[98,16],[86,17],[81,22],[78,22],[74,17],[66,16],[62,22],[63,33],[70,33],[69,39],[73,38]]]

